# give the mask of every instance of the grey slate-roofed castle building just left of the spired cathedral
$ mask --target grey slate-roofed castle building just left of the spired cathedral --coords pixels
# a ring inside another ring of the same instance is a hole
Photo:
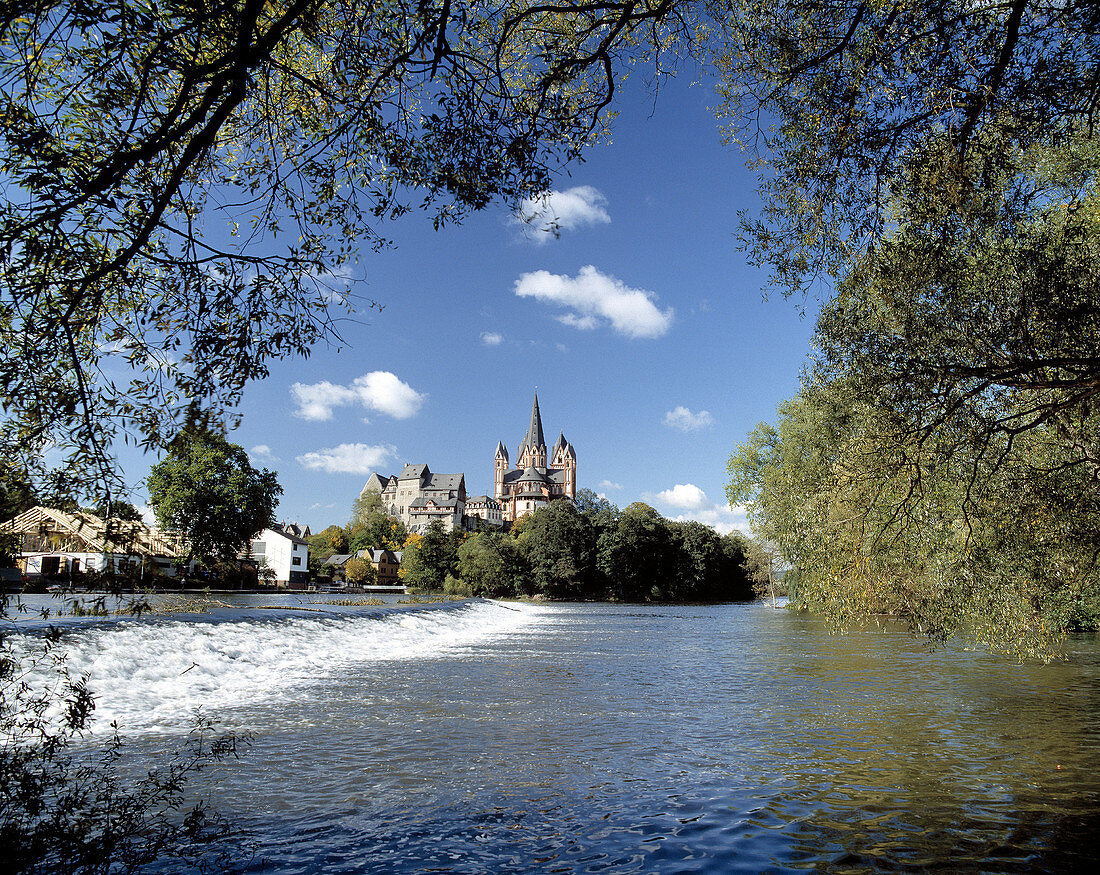
[[[433,474],[427,464],[406,464],[396,477],[371,474],[360,492],[377,492],[382,510],[400,519],[410,533],[426,532],[439,521],[444,531],[462,528],[466,512],[464,474]]]

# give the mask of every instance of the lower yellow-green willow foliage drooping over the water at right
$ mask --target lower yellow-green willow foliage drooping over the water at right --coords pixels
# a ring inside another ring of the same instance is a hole
[[[1096,628],[1100,503],[1080,467],[1056,464],[1057,437],[1033,429],[992,457],[917,453],[897,416],[811,385],[730,457],[727,495],[793,567],[796,604],[837,625],[888,614],[932,642],[1040,657],[1067,630]]]

